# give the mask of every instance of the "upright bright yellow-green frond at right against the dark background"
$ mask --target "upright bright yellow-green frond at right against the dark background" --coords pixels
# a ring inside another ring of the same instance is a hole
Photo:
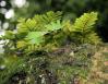
[[[71,31],[83,33],[92,29],[97,21],[97,12],[84,13],[81,17],[76,19]]]

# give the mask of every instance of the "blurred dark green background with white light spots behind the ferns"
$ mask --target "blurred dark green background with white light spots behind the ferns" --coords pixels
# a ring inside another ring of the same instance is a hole
[[[108,0],[0,0],[0,31],[14,29],[20,17],[47,11],[62,11],[64,19],[72,21],[84,12],[97,11],[98,35],[108,41]]]

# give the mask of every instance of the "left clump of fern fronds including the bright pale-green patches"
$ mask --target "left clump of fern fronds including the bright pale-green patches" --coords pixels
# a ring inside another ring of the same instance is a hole
[[[39,45],[45,41],[44,37],[51,31],[58,31],[62,28],[61,25],[61,12],[47,12],[46,14],[36,14],[33,19],[20,19],[17,24],[16,37],[19,46],[22,39],[28,45]],[[17,46],[17,47],[19,47]]]

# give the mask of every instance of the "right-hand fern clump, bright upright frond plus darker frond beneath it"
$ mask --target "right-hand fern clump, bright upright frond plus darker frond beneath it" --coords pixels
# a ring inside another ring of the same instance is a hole
[[[84,13],[81,17],[76,19],[70,31],[75,34],[77,41],[81,44],[98,44],[100,39],[94,29],[96,21],[96,12]]]

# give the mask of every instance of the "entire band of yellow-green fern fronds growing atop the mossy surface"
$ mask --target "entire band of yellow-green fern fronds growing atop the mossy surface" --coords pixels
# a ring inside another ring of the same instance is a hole
[[[60,38],[63,38],[65,36],[70,37],[73,41],[79,44],[89,43],[96,45],[99,43],[99,38],[95,33],[95,29],[93,28],[96,21],[96,12],[84,13],[84,15],[76,19],[75,23],[72,25],[70,21],[62,20],[61,12],[50,11],[46,14],[37,14],[33,19],[19,20],[20,23],[17,24],[17,33],[15,34],[15,36],[20,40],[28,40],[28,45],[39,45],[40,43],[44,44],[45,39],[47,38],[47,34],[51,34],[49,37],[55,43],[57,43]],[[9,38],[8,35],[9,37],[11,37]],[[5,37],[11,39],[14,37],[14,34],[12,34],[12,32],[8,32],[5,34]],[[20,40],[17,40],[17,43]]]

